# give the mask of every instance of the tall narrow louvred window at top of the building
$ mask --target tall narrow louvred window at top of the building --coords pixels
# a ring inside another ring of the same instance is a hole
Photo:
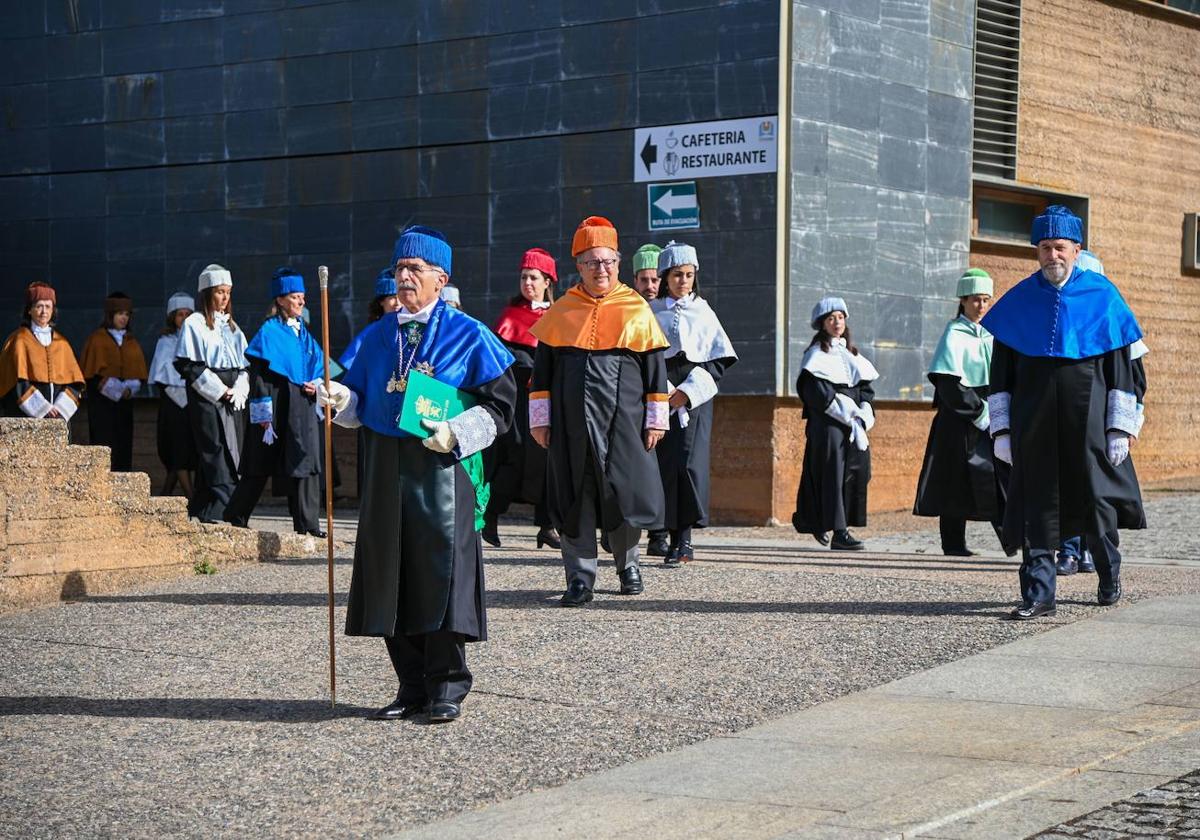
[[[973,167],[978,175],[1016,178],[1021,1],[977,0]]]

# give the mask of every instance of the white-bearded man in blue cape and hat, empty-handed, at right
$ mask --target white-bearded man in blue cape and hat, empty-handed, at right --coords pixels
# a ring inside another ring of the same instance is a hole
[[[984,316],[995,336],[991,437],[1013,464],[1003,542],[1021,548],[1018,620],[1055,614],[1054,547],[1084,534],[1102,606],[1121,598],[1118,528],[1145,528],[1129,439],[1138,436],[1130,344],[1138,320],[1103,275],[1075,265],[1082,222],[1046,208],[1030,241],[1040,270]]]

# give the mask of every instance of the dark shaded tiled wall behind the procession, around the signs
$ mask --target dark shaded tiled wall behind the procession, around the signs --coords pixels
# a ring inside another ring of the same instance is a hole
[[[49,278],[77,347],[121,289],[152,349],[209,262],[252,332],[290,263],[331,268],[340,352],[415,221],[446,232],[490,320],[526,248],[570,274],[583,216],[626,253],[650,239],[636,126],[778,113],[774,0],[22,0],[0,35],[0,330]],[[702,181],[686,236],[742,353],[733,392],[774,390],[774,193]]]

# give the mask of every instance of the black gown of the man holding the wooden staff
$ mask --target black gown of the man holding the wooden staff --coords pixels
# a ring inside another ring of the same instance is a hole
[[[487,409],[497,433],[512,422],[511,368],[463,389]],[[359,535],[346,608],[348,636],[415,636],[444,630],[487,638],[484,556],[475,488],[452,454],[415,437],[362,428]]]

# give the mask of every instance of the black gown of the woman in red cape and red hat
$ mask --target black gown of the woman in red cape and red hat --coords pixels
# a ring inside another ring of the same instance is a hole
[[[544,497],[546,493],[546,450],[529,436],[529,378],[533,376],[534,348],[504,342],[512,354],[512,376],[517,397],[512,425],[484,452],[487,484],[492,498],[487,515],[500,516],[514,502],[534,505],[534,521],[550,527]]]

